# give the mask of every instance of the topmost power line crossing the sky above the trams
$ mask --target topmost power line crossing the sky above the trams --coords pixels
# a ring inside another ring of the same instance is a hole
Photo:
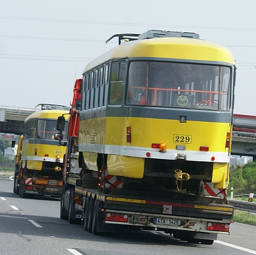
[[[140,26],[140,27],[170,27],[169,24],[136,24],[136,23],[114,23],[107,21],[82,21],[74,19],[50,19],[50,18],[33,18],[33,17],[21,17],[21,16],[4,16],[0,15],[1,19],[18,19],[18,20],[29,20],[29,21],[44,21],[44,22],[56,22],[56,23],[77,23],[77,24],[99,24],[99,25],[112,25],[112,26]],[[252,27],[207,27],[207,26],[176,26],[172,27],[181,27],[181,28],[196,28],[196,29],[219,29],[219,30],[251,30],[255,31],[255,28]]]

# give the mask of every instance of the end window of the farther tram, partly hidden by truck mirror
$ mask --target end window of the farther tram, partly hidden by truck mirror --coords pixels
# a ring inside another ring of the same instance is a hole
[[[57,127],[57,120],[45,120],[45,119],[38,119],[37,122],[37,139],[46,139],[46,140],[54,140],[54,134],[58,133],[56,129]],[[63,130],[63,141],[66,140],[66,131],[68,125],[65,125],[65,129]]]

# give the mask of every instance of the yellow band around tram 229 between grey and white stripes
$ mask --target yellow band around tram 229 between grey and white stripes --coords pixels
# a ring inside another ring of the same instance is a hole
[[[226,134],[230,131],[229,123],[196,121],[180,123],[179,120],[140,117],[107,117],[104,120],[105,122],[99,122],[98,119],[81,121],[79,144],[90,144],[90,130],[95,128],[95,144],[151,148],[152,143],[164,142],[167,150],[175,150],[176,145],[180,143],[174,142],[174,134],[182,134],[192,136],[192,142],[185,144],[186,150],[199,151],[200,146],[208,146],[209,152],[229,151],[229,148],[225,148]],[[132,136],[130,143],[126,142],[126,127],[129,126]],[[95,152],[94,145],[90,148]]]

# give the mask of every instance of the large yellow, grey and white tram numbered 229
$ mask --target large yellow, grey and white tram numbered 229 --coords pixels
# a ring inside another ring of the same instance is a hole
[[[201,194],[204,182],[225,189],[236,70],[229,49],[196,33],[113,37],[119,45],[83,73],[85,168],[96,173],[103,164],[149,189]]]

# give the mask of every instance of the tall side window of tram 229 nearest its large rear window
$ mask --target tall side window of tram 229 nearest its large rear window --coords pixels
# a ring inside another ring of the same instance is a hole
[[[121,105],[124,94],[124,75],[126,63],[114,62],[110,71],[109,105]]]

